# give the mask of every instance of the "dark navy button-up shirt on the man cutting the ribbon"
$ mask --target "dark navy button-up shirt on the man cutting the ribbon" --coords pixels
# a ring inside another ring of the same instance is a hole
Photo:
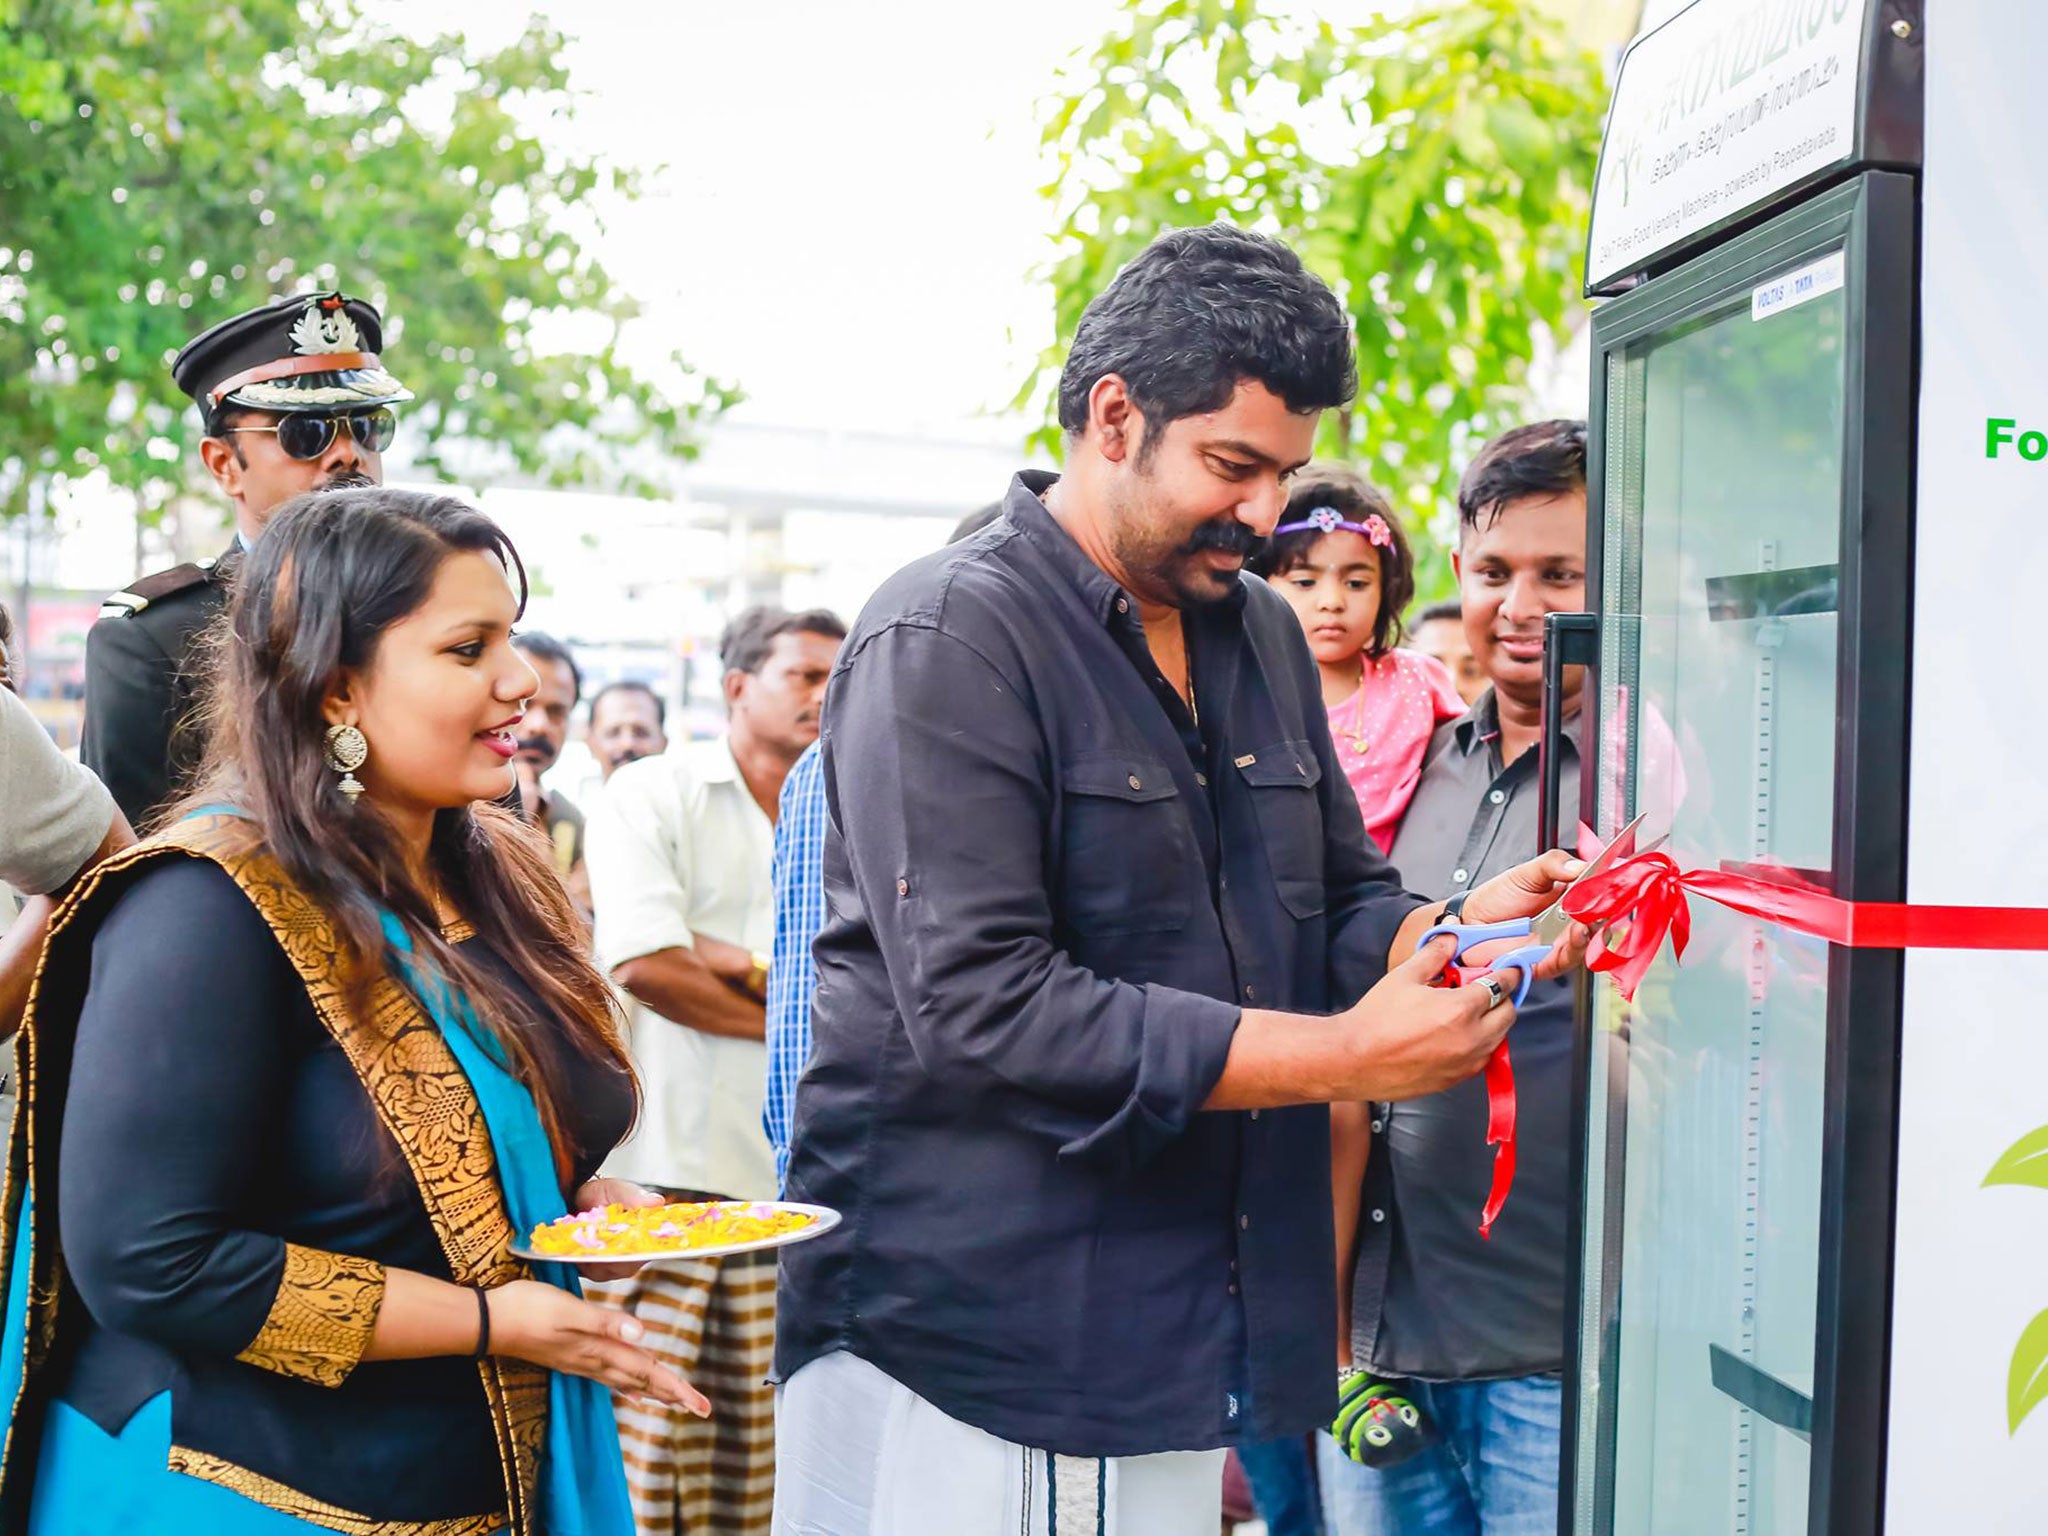
[[[1202,1102],[1241,1008],[1350,1006],[1421,901],[1286,602],[1188,610],[1190,752],[1049,483],[891,578],[825,694],[788,1194],[846,1221],[782,1255],[776,1372],[850,1350],[1061,1454],[1296,1434],[1335,1409],[1329,1114]]]

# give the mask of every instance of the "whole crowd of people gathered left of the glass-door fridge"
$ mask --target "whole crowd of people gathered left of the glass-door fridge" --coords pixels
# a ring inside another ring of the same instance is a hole
[[[0,690],[0,1511],[1206,1536],[1235,1450],[1272,1536],[1552,1532],[1587,934],[1464,985],[1425,936],[1581,868],[1534,745],[1583,424],[1485,444],[1411,610],[1391,500],[1311,457],[1341,303],[1165,233],[1071,338],[1063,471],[850,629],[737,614],[723,735],[670,741],[518,629],[489,518],[381,485],[379,348],[340,293],[195,338],[233,545],[109,602],[80,764]],[[508,1253],[778,1196],[842,1221]]]

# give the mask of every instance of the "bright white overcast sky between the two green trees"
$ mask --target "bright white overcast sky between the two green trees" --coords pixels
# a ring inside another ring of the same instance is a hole
[[[1034,102],[1112,0],[545,0],[573,41],[575,135],[668,164],[602,256],[647,340],[737,379],[748,416],[1004,432],[1051,330],[1028,272],[1051,209]],[[412,31],[502,41],[524,6],[395,0]]]

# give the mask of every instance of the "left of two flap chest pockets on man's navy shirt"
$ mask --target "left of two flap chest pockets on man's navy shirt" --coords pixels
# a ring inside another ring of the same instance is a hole
[[[1059,770],[1059,905],[1081,934],[1159,934],[1188,926],[1206,879],[1174,774],[1141,752],[1100,752]]]

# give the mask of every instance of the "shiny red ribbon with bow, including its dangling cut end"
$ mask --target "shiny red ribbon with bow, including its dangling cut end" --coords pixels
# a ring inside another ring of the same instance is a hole
[[[1671,956],[1686,958],[1688,897],[1694,895],[1845,948],[2048,950],[2048,909],[2042,907],[1843,901],[1784,866],[1681,870],[1669,854],[1653,852],[1622,858],[1565,893],[1565,915],[1593,930],[1585,969],[1612,975],[1616,991],[1634,999],[1667,938]],[[1493,1147],[1493,1188],[1479,1219],[1481,1237],[1493,1235],[1493,1221],[1516,1182],[1516,1071],[1505,1040],[1487,1061],[1487,1145]]]

